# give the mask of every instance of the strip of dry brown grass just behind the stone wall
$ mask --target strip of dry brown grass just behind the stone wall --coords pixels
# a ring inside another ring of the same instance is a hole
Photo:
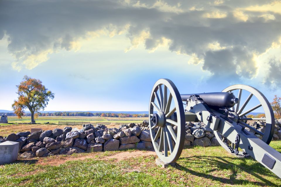
[[[41,128],[43,130],[53,130],[55,128],[63,129],[66,125],[51,125],[51,124],[11,124],[0,126],[0,136],[8,136],[11,133],[30,131],[31,128]],[[67,125],[67,127],[82,128],[82,125]],[[108,128],[117,127],[116,125],[107,125]]]

